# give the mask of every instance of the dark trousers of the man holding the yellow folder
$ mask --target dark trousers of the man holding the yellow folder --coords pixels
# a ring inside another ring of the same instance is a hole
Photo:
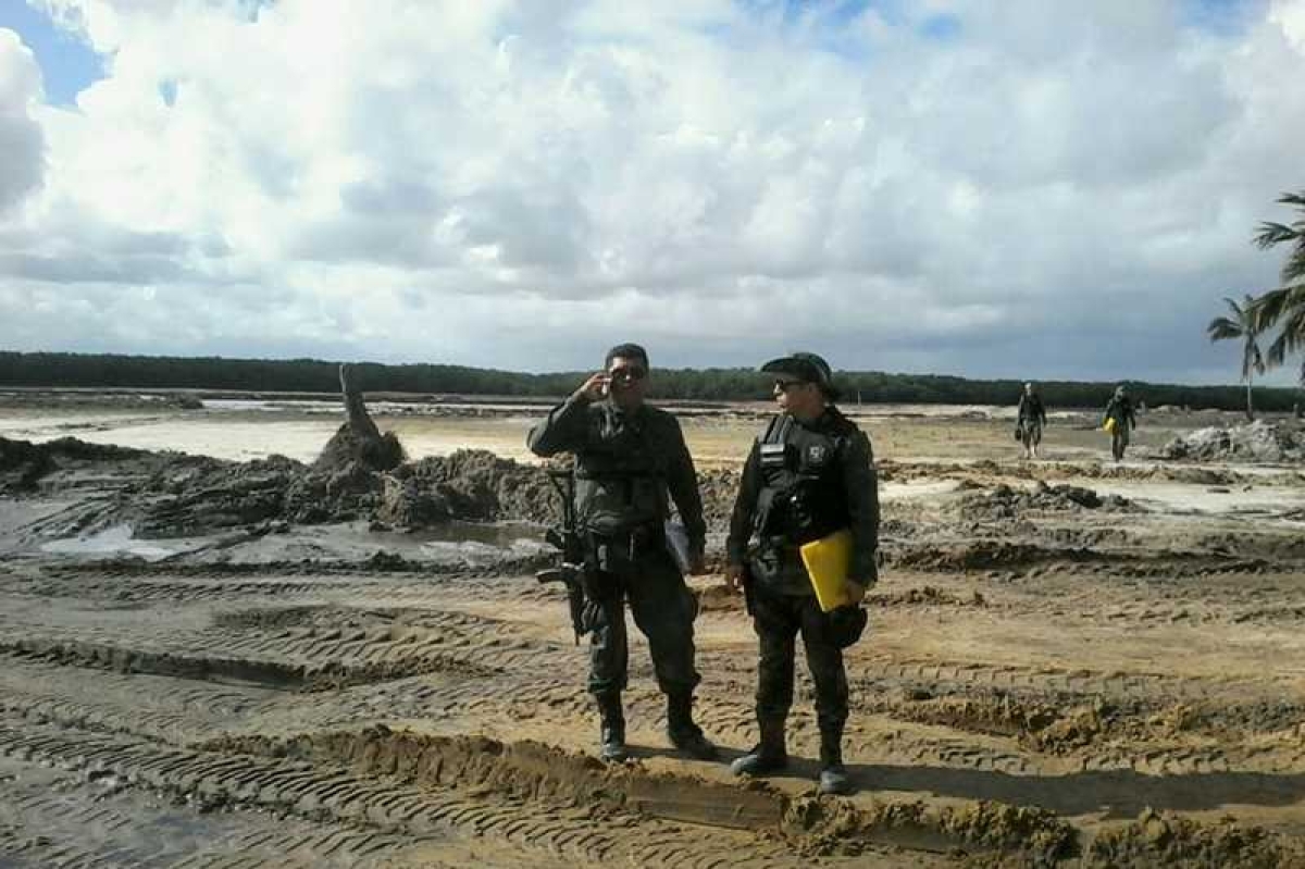
[[[783,720],[793,705],[793,658],[797,634],[816,685],[821,733],[840,735],[847,722],[847,671],[843,650],[825,638],[827,618],[814,595],[784,595],[757,583],[753,629],[761,641],[757,664],[757,719]]]

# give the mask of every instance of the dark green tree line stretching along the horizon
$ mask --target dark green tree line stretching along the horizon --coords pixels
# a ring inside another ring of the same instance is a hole
[[[354,365],[359,386],[371,393],[463,394],[553,398],[572,391],[590,372],[529,374],[461,365]],[[936,374],[839,372],[843,404],[1014,404],[1022,384],[1015,380],[966,380]],[[0,352],[0,386],[90,389],[210,389],[241,393],[338,393],[338,363],[315,359],[184,359],[84,354]],[[1150,407],[1238,410],[1240,386],[1130,384]],[[1114,384],[1039,381],[1048,407],[1105,404]],[[655,398],[697,401],[767,399],[770,378],[746,368],[656,369]],[[1265,410],[1287,411],[1298,401],[1293,389],[1263,389]]]

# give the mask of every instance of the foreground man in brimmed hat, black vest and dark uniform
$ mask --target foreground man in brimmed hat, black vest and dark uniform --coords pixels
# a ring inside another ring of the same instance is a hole
[[[850,791],[843,769],[847,673],[843,648],[865,626],[860,602],[878,579],[880,501],[869,438],[834,406],[829,364],[793,354],[761,367],[775,376],[779,415],[757,438],[744,466],[726,544],[731,587],[745,585],[761,639],[757,724],[761,740],[733,762],[736,774],[761,775],[788,763],[784,720],[793,699],[795,637],[801,633],[816,684],[821,735],[820,788]],[[829,613],[816,600],[799,553],[834,531],[852,532],[851,604]]]

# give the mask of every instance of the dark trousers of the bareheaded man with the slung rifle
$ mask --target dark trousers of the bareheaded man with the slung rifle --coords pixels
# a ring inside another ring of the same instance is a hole
[[[654,549],[602,570],[595,583],[599,604],[590,635],[589,690],[611,695],[629,680],[625,605],[647,637],[658,686],[667,695],[692,694],[702,677],[694,668],[693,620],[698,602],[668,552]]]

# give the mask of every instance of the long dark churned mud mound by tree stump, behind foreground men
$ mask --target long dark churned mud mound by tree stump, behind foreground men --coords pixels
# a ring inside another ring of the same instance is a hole
[[[402,450],[389,433],[377,442],[394,448],[382,463]],[[553,525],[561,519],[547,466],[458,450],[377,470],[356,454],[356,446],[342,428],[309,466],[283,455],[228,462],[74,438],[50,444],[0,438],[0,492],[77,488],[90,474],[111,493],[81,517],[78,531],[127,523],[138,536],[155,539],[269,522],[364,521],[422,528],[449,521]],[[707,525],[724,531],[737,474],[709,472],[702,483]]]

